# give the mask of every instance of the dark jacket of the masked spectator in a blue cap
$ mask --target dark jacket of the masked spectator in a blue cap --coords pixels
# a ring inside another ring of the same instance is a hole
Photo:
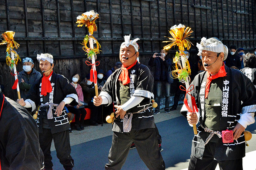
[[[32,84],[36,82],[36,80],[39,80],[40,77],[42,77],[42,74],[36,71],[34,68],[32,68],[32,72],[29,75],[24,70],[19,72],[18,80],[20,85],[21,98],[26,100],[28,90],[31,88]],[[21,82],[21,79],[23,79],[24,82]]]

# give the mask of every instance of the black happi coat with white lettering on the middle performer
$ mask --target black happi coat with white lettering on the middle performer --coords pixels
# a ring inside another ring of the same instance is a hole
[[[106,81],[105,85],[102,88],[102,92],[100,96],[105,96],[108,99],[108,104],[114,102],[114,104],[120,105],[120,98],[117,97],[117,86],[120,83],[118,80],[122,69],[117,69]],[[128,92],[130,97],[139,96],[144,97],[142,102],[137,106],[129,109],[127,112],[138,112],[146,107],[149,107],[144,112],[133,114],[132,117],[132,129],[131,130],[140,130],[146,128],[154,128],[154,116],[152,113],[152,103],[151,97],[154,78],[152,72],[149,68],[143,64],[139,64],[138,62],[128,70],[128,76],[130,77],[130,83],[128,86]],[[115,119],[113,124],[113,131],[115,132],[123,132],[123,122]]]

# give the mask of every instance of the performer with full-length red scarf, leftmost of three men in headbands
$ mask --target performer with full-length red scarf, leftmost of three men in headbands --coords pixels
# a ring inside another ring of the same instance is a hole
[[[74,160],[70,156],[70,128],[68,115],[64,109],[65,104],[76,106],[78,96],[76,89],[67,78],[56,74],[52,69],[53,56],[51,54],[37,55],[40,69],[44,73],[28,91],[27,99],[18,99],[17,102],[25,108],[38,108],[36,119],[39,128],[39,142],[44,152],[45,170],[52,170],[51,144],[52,139],[57,152],[57,157],[65,170],[72,170]]]

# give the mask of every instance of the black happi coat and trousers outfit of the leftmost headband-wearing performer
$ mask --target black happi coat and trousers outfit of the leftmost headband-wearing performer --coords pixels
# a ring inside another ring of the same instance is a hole
[[[40,147],[44,152],[45,168],[48,170],[53,166],[51,161],[52,157],[50,155],[50,146],[53,139],[60,163],[63,164],[66,170],[70,170],[74,166],[74,160],[70,156],[71,148],[68,133],[70,124],[68,115],[65,108],[62,110],[62,114],[59,117],[54,113],[56,106],[60,104],[64,98],[70,97],[74,99],[70,103],[71,106],[78,104],[76,90],[69,83],[67,78],[52,72],[51,78],[49,76],[51,79],[50,85],[52,92],[47,92],[46,96],[43,96],[41,95],[42,78],[43,77],[36,81],[30,88],[26,101],[31,104],[32,111],[36,109],[36,106],[47,103],[48,105],[53,104],[52,112],[48,112],[48,105],[40,107],[38,110],[38,118],[36,119],[39,128]]]

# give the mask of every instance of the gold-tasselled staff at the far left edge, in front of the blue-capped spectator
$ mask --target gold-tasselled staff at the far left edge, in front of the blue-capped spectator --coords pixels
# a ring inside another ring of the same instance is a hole
[[[18,72],[16,70],[16,65],[18,61],[20,60],[19,55],[14,50],[14,47],[17,49],[20,47],[20,44],[18,44],[16,41],[14,41],[14,35],[15,32],[13,31],[6,31],[1,36],[4,40],[0,43],[0,45],[6,44],[6,64],[10,67],[10,72],[15,78],[14,85],[12,86],[12,89],[17,89],[18,98],[20,99],[20,88],[18,84]],[[14,73],[12,73],[12,70]]]

